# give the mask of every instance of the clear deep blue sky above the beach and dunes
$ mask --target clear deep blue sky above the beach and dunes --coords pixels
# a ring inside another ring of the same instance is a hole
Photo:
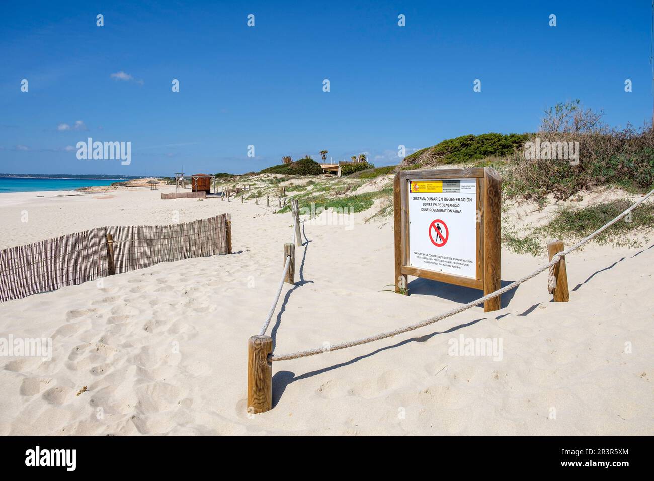
[[[0,172],[243,173],[322,149],[381,166],[398,145],[534,131],[574,98],[651,121],[649,0],[492,3],[7,2]],[[130,141],[131,164],[78,160],[88,137]]]

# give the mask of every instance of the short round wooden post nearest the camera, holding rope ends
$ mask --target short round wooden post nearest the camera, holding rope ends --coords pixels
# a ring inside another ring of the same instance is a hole
[[[270,336],[252,336],[247,342],[247,410],[249,414],[266,412],[273,407],[273,351]]]

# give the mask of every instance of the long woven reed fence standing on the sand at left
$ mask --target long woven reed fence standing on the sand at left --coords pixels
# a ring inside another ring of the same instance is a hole
[[[232,252],[230,214],[167,226],[105,227],[0,251],[0,302],[152,266]]]

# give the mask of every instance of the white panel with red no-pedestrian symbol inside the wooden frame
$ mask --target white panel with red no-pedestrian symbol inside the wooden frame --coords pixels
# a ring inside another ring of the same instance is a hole
[[[409,181],[409,265],[477,277],[477,181]]]

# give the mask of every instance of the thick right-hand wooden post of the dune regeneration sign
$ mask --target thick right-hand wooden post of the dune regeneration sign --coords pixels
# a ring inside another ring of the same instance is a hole
[[[484,295],[502,287],[500,245],[502,242],[502,180],[491,168],[484,169]],[[502,296],[484,302],[484,312],[499,310]]]

